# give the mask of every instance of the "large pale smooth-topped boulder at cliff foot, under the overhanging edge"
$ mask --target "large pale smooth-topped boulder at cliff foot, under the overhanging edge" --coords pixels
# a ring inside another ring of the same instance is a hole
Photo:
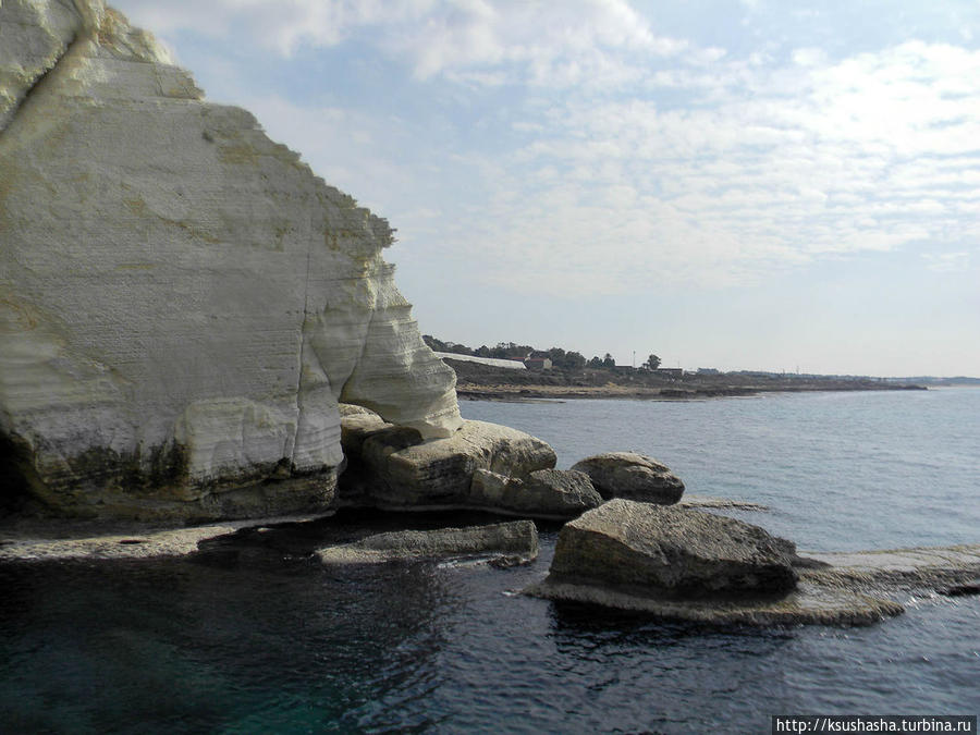
[[[558,489],[538,488],[537,494],[522,498],[523,481],[537,470],[553,468],[556,460],[551,446],[528,433],[486,421],[464,421],[452,437],[424,441],[411,427],[346,408],[344,413],[341,422],[347,468],[340,483],[342,506],[477,509],[563,518],[585,510],[550,512],[568,502],[560,498]],[[478,470],[499,477],[501,487],[474,482]],[[550,495],[547,500],[546,494]],[[536,513],[544,503],[548,512]]]

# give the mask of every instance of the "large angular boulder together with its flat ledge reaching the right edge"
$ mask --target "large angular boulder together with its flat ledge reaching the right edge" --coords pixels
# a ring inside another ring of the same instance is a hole
[[[707,515],[605,503],[562,529],[549,576],[524,593],[700,623],[871,625],[904,612],[895,592],[942,592],[980,575],[980,544],[799,556],[791,542],[756,529],[736,540],[748,556],[733,555],[731,538],[740,526],[756,527],[719,516],[703,525]],[[676,528],[664,532],[664,525]],[[675,543],[687,548],[678,552]],[[713,560],[697,555],[706,550]],[[767,569],[769,555],[798,581],[787,584],[783,571],[751,571],[760,563]]]

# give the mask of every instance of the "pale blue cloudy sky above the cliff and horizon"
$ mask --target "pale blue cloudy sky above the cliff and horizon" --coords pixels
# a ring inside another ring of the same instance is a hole
[[[115,0],[389,219],[424,333],[980,376],[980,2]]]

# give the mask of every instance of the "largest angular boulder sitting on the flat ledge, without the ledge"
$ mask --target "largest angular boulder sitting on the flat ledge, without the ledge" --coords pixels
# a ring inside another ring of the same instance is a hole
[[[657,595],[786,592],[796,549],[734,518],[612,500],[566,524],[550,576]]]

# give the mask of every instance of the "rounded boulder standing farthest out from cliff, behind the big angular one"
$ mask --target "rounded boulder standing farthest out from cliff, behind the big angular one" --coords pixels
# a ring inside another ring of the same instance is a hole
[[[635,452],[608,452],[577,462],[605,500],[625,498],[671,505],[684,494],[684,482],[659,462]]]

